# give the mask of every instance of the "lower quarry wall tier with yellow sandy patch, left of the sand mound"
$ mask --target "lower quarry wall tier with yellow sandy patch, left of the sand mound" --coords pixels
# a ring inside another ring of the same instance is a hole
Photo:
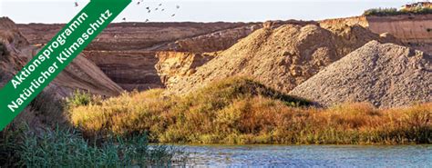
[[[148,51],[86,51],[110,79],[128,91],[164,88],[211,60],[210,54]]]

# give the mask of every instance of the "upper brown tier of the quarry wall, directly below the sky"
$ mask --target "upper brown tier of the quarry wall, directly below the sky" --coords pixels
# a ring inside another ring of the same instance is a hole
[[[120,23],[111,24],[87,50],[154,50],[159,45],[213,32],[251,25],[247,23]],[[46,44],[64,25],[18,25],[31,44]],[[115,46],[115,47],[113,47]]]

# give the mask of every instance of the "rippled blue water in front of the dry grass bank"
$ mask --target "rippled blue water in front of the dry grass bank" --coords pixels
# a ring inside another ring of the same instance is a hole
[[[180,145],[196,167],[432,167],[432,145]]]

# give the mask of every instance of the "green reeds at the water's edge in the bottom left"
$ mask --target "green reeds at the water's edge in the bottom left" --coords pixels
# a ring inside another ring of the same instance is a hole
[[[80,133],[59,129],[42,135],[24,133],[19,154],[27,167],[148,167],[183,164],[186,153],[166,145],[149,145],[147,137],[112,137],[88,144]]]

